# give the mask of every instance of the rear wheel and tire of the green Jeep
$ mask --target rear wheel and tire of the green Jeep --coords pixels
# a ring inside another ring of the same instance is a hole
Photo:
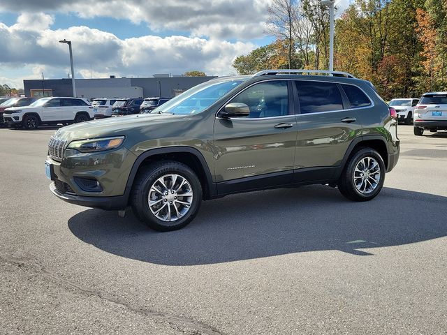
[[[379,152],[372,148],[362,148],[346,162],[337,186],[340,193],[349,200],[372,200],[383,187],[385,173],[385,163]]]

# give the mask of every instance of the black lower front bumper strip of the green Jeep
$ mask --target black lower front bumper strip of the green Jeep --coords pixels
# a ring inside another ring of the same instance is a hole
[[[64,200],[70,204],[78,204],[79,206],[107,210],[120,210],[127,207],[126,195],[119,195],[116,197],[85,197],[81,195],[73,195],[59,192],[56,186],[54,186],[54,183],[50,184],[50,191],[60,200]]]

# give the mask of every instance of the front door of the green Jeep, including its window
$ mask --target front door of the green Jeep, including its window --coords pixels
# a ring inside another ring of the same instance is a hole
[[[219,193],[291,181],[297,124],[289,92],[289,80],[259,82],[229,101],[248,105],[249,117],[214,121]]]

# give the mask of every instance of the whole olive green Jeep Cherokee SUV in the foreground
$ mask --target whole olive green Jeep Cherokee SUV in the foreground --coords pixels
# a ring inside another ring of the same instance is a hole
[[[131,206],[167,231],[191,222],[202,200],[232,193],[328,184],[350,200],[371,200],[399,144],[397,120],[370,82],[265,70],[210,80],[151,114],[61,128],[45,171],[61,200]]]

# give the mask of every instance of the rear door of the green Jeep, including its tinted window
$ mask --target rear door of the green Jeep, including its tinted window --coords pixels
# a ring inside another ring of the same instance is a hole
[[[342,163],[349,144],[362,131],[358,112],[351,108],[336,82],[294,80],[293,83],[298,96],[294,179],[330,179]],[[354,97],[353,104],[362,106],[363,103]],[[369,99],[367,104],[371,104]]]

